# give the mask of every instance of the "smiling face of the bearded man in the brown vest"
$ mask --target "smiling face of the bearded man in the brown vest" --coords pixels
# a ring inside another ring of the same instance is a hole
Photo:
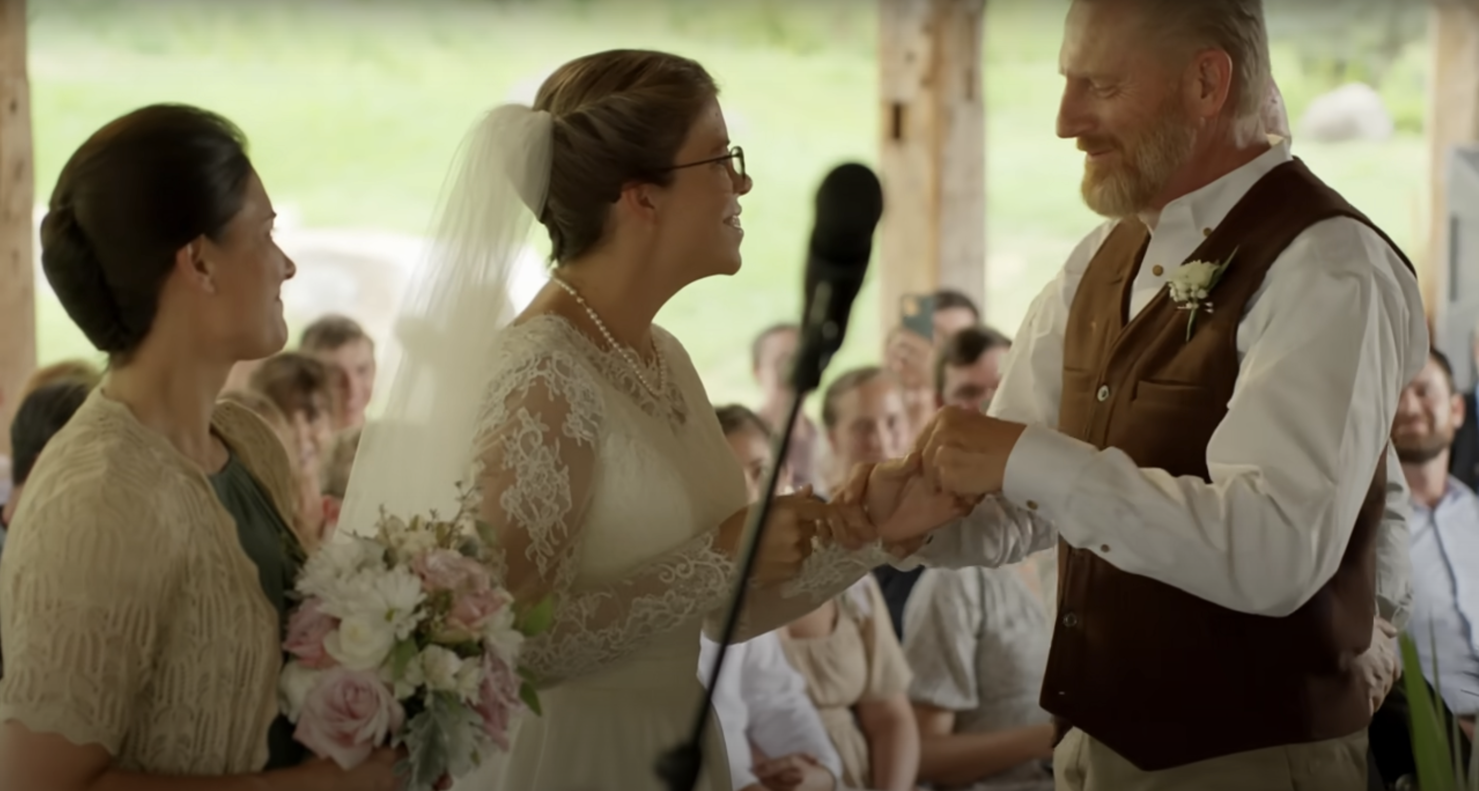
[[[1197,126],[1182,71],[1170,61],[1155,50],[1133,1],[1075,1],[1068,12],[1057,135],[1084,152],[1081,192],[1099,214],[1154,208],[1192,158]]]

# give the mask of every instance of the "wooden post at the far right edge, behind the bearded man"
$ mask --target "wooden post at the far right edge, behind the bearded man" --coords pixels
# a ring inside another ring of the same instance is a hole
[[[1430,154],[1427,254],[1418,256],[1418,282],[1432,325],[1442,327],[1448,285],[1449,151],[1479,142],[1479,0],[1436,0],[1427,27],[1432,67],[1427,77]]]

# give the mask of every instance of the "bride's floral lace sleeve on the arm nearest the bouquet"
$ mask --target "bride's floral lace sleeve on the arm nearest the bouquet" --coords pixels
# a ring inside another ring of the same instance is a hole
[[[500,581],[519,600],[553,596],[552,628],[524,649],[540,685],[600,670],[717,608],[734,578],[734,563],[713,544],[717,526],[620,581],[577,584],[599,463],[600,390],[595,374],[562,352],[500,368],[476,442],[481,510],[498,540]]]

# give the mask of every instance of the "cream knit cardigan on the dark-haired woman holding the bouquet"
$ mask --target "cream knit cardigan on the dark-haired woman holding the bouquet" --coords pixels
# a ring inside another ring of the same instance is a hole
[[[277,435],[211,426],[291,522]],[[102,745],[120,769],[234,775],[268,760],[277,611],[206,475],[101,389],[37,463],[0,554],[0,722]]]

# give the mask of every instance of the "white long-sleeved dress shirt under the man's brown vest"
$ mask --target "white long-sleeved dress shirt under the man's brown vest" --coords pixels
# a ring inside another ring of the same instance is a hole
[[[1171,201],[1136,274],[1130,318],[1238,200],[1290,158],[1288,143],[1276,140]],[[1056,430],[1069,308],[1112,228],[1078,244],[1034,300],[1007,356],[989,413],[1028,429],[1007,458],[1001,495],[936,531],[917,557],[995,566],[1062,535],[1126,572],[1216,605],[1290,615],[1334,577],[1398,396],[1427,359],[1417,278],[1356,220],[1330,219],[1300,234],[1238,325],[1238,383],[1207,445],[1211,481],[1174,478]],[[1389,458],[1389,476],[1393,464]]]

